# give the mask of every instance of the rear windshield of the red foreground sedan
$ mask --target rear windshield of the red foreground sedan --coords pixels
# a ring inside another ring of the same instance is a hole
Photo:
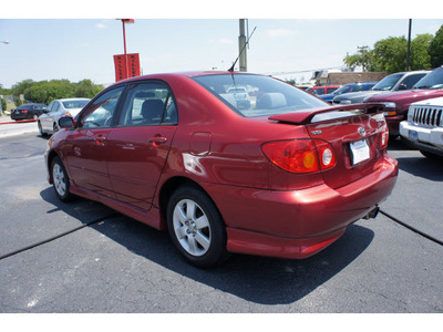
[[[329,104],[269,76],[220,74],[193,77],[226,105],[246,117],[269,116]]]

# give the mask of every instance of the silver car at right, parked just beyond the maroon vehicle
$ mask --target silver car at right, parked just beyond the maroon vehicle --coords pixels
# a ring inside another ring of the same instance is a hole
[[[363,103],[364,98],[393,91],[401,91],[411,89],[416,82],[423,79],[431,71],[414,71],[414,72],[402,72],[385,76],[371,90],[356,93],[343,93],[336,96],[332,100],[333,104],[359,104]]]

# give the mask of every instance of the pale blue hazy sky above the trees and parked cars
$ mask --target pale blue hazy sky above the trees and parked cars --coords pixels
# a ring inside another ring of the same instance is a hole
[[[387,2],[379,0],[371,1],[375,9],[368,12],[350,7],[349,1],[318,0],[319,6],[302,7],[297,4],[300,2],[306,1],[266,2],[275,4],[272,8],[258,0],[133,0],[128,6],[93,0],[20,2],[20,8],[12,4],[0,12],[0,84],[11,87],[28,79],[113,83],[113,55],[124,52],[117,18],[135,20],[126,25],[126,48],[128,53],[140,53],[143,74],[227,70],[238,55],[239,18],[247,18],[249,33],[256,28],[247,50],[248,72],[299,83],[309,81],[313,70],[342,66],[343,58],[356,53],[358,46],[372,48],[388,37],[408,37],[409,18],[412,38],[435,34],[443,24],[443,15],[429,17],[429,8],[443,9],[432,0],[426,2],[427,9],[410,12],[377,7]]]

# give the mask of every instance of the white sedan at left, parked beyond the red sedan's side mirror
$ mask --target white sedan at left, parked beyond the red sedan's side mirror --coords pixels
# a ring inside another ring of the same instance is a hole
[[[59,118],[64,115],[75,117],[90,102],[89,98],[64,98],[55,100],[49,104],[44,114],[38,121],[40,135],[53,134],[59,131]]]

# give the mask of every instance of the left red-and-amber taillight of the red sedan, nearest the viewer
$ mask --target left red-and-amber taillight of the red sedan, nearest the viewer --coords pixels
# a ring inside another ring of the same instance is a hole
[[[317,172],[336,164],[331,146],[319,139],[269,142],[261,149],[270,162],[290,173]]]

